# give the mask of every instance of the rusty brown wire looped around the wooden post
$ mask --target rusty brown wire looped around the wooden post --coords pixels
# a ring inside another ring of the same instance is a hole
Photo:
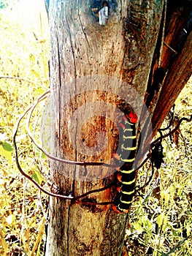
[[[18,129],[20,127],[20,122],[23,120],[23,118],[26,117],[26,115],[28,114],[28,117],[27,117],[27,121],[26,121],[26,130],[27,130],[27,133],[28,133],[28,136],[31,138],[31,141],[32,143],[34,143],[35,146],[37,146],[37,148],[39,148],[40,151],[42,151],[49,159],[53,159],[55,161],[58,161],[58,162],[63,162],[65,164],[69,164],[69,165],[81,165],[81,166],[88,166],[88,165],[94,165],[94,166],[100,166],[100,165],[104,165],[105,167],[117,167],[116,165],[110,165],[110,164],[107,164],[107,163],[104,163],[104,162],[77,162],[77,161],[70,161],[70,160],[66,160],[66,159],[61,159],[61,158],[58,158],[58,157],[53,157],[53,155],[49,154],[45,148],[43,148],[42,146],[39,146],[39,143],[37,143],[37,140],[35,140],[34,138],[34,135],[32,135],[31,133],[31,130],[29,128],[29,125],[30,125],[30,122],[31,122],[31,116],[34,112],[34,109],[37,107],[37,105],[39,104],[39,102],[41,102],[42,100],[44,99],[47,99],[47,97],[50,97],[50,91],[46,91],[44,94],[42,94],[40,97],[37,98],[37,100],[34,102],[33,105],[31,105],[31,107],[29,107],[24,113],[22,116],[20,116],[20,118],[18,119],[18,123],[16,124],[16,127],[15,127],[15,132],[14,132],[14,135],[13,135],[13,144],[14,144],[14,147],[15,147],[15,161],[16,161],[16,164],[18,166],[18,170],[20,170],[20,173],[25,176],[26,178],[28,178],[28,180],[30,180],[36,187],[38,187],[38,189],[40,189],[42,192],[44,192],[45,194],[51,196],[51,197],[57,197],[57,198],[63,198],[65,200],[76,200],[77,202],[79,203],[82,203],[82,204],[88,204],[88,203],[84,203],[82,201],[78,201],[80,198],[82,197],[86,197],[92,193],[96,193],[96,192],[101,192],[101,191],[104,191],[105,189],[108,189],[110,187],[112,187],[114,185],[114,182],[108,184],[106,187],[102,187],[101,189],[93,189],[89,192],[86,192],[82,195],[77,195],[77,196],[72,196],[72,195],[69,195],[69,196],[66,196],[66,195],[59,195],[58,193],[54,193],[54,192],[51,192],[51,191],[47,191],[47,189],[43,188],[40,184],[37,183],[37,181],[34,180],[34,178],[31,178],[31,176],[29,176],[23,169],[22,167],[20,166],[20,162],[19,162],[19,159],[18,159],[18,146],[17,146],[17,143],[16,143],[16,136],[18,134]],[[150,149],[153,148],[153,146],[155,145],[155,143],[157,143],[159,140],[162,140],[163,138],[166,138],[168,137],[169,135],[172,135],[179,127],[180,127],[180,124],[182,123],[182,121],[192,121],[192,116],[191,118],[181,118],[180,121],[178,122],[177,124],[177,127],[175,127],[174,129],[172,129],[169,133],[167,133],[166,135],[161,135],[161,137],[157,138],[156,140],[153,141],[153,143],[151,143],[150,145]],[[159,129],[161,131],[161,129]],[[145,162],[147,162],[147,159],[150,159],[150,156],[151,154],[148,154],[147,155],[147,158],[142,162],[141,165],[139,165],[139,167],[136,168],[136,170],[139,170],[139,168],[141,168]],[[150,177],[150,181],[151,181],[151,178],[152,176]],[[149,182],[147,182],[147,184],[149,184]],[[53,186],[53,183],[52,185]],[[146,184],[145,184],[146,186]],[[140,190],[140,189],[138,189]],[[137,191],[136,191],[137,192]],[[114,202],[103,202],[103,203],[89,203],[89,205],[107,205],[107,204],[112,204]]]

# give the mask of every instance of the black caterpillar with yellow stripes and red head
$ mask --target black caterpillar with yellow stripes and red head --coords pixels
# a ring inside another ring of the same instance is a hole
[[[136,129],[137,115],[128,113],[123,116],[120,123],[120,129],[123,133],[123,142],[120,150],[120,173],[117,178],[121,186],[118,188],[120,192],[118,199],[115,201],[113,210],[118,213],[128,214],[129,208],[135,193],[136,170],[134,170],[134,159],[136,154]]]

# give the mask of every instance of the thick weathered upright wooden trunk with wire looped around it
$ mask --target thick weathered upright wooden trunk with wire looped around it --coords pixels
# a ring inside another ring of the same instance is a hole
[[[157,67],[155,52],[163,49],[166,4],[164,0],[109,1],[104,26],[93,11],[99,2],[50,2],[51,150],[61,159],[112,164],[122,116],[119,102],[128,102],[138,117],[145,108],[151,69]],[[147,120],[143,116],[140,125],[149,130]],[[138,129],[139,156],[150,133]],[[51,162],[53,182],[63,195],[105,187],[114,172],[104,165]],[[121,255],[128,215],[112,211],[110,204],[94,205],[114,200],[116,193],[115,187],[108,188],[84,198],[84,203],[51,197],[46,255]]]

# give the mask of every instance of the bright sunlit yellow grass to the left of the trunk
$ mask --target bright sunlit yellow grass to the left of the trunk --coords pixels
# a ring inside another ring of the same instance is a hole
[[[11,147],[20,114],[49,88],[44,1],[12,1],[1,9],[0,34],[0,255],[43,255],[47,199],[20,175]],[[21,162],[32,172],[31,141],[21,132]]]

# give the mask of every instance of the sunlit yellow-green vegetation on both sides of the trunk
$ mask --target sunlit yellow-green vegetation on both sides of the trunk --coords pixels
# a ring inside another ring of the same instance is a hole
[[[17,4],[0,12],[1,255],[44,255],[48,198],[20,175],[12,147],[18,118],[49,87],[47,14],[43,1],[26,3],[25,10]],[[174,112],[179,118],[191,115],[191,83],[177,99]],[[191,123],[184,121],[178,142],[164,140],[164,163],[131,209],[125,242],[128,255],[192,255],[191,132]],[[23,169],[41,178],[23,123],[17,141]],[[138,186],[150,173],[147,162],[139,170]]]

